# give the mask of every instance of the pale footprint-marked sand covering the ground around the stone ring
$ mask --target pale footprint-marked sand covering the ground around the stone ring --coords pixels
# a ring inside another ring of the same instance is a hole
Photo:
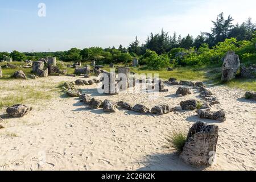
[[[33,85],[42,82],[58,84],[75,81],[73,77],[49,77],[38,80],[9,80],[8,86]],[[85,79],[85,78],[82,78]],[[85,79],[88,80],[88,79]],[[92,97],[153,107],[168,103],[179,106],[180,101],[199,96],[175,97],[178,86],[166,86],[157,100],[148,94],[119,94],[101,96],[96,85],[80,86]],[[0,129],[0,169],[2,170],[199,170],[187,166],[166,148],[166,136],[175,130],[188,131],[196,121],[220,127],[217,164],[205,170],[256,169],[256,102],[243,99],[244,91],[225,86],[209,88],[221,102],[212,110],[224,110],[224,123],[199,119],[195,111],[179,111],[161,116],[144,115],[119,110],[104,113],[89,110],[77,98],[56,98],[32,104],[33,110],[23,118],[8,118]],[[1,90],[0,94],[8,94]],[[19,94],[19,93],[17,93]],[[199,99],[199,98],[198,98]],[[16,134],[18,137],[12,137]]]

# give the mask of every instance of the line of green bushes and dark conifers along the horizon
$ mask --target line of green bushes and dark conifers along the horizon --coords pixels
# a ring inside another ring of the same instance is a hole
[[[1,52],[0,60],[3,59],[3,55],[10,56],[15,61],[55,56],[62,61],[95,60],[102,64],[127,64],[137,58],[140,64],[147,65],[148,69],[161,69],[177,65],[217,64],[220,63],[225,51],[238,51],[246,47],[249,50],[243,50],[241,56],[253,59],[256,55],[251,47],[255,42],[256,25],[251,18],[242,24],[233,24],[233,21],[232,16],[229,15],[225,19],[224,13],[221,13],[212,21],[211,31],[201,32],[195,39],[189,34],[181,38],[176,32],[168,35],[168,32],[162,30],[159,34],[151,32],[144,44],[140,44],[136,36],[127,48],[120,45],[118,48],[71,48],[60,52]]]

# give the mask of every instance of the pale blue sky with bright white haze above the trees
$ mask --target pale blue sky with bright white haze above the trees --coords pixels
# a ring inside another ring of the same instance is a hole
[[[234,23],[249,16],[256,23],[255,7],[255,0],[0,0],[0,52],[127,47],[162,28],[196,37],[221,12]]]

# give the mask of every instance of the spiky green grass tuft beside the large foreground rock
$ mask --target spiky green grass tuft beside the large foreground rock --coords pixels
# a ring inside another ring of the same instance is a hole
[[[175,131],[166,139],[169,148],[174,148],[177,152],[182,152],[187,141],[187,136],[182,131]]]

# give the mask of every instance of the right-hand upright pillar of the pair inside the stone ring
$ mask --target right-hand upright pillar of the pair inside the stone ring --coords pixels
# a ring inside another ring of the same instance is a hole
[[[118,88],[120,91],[124,91],[129,88],[129,76],[130,68],[118,67]]]

